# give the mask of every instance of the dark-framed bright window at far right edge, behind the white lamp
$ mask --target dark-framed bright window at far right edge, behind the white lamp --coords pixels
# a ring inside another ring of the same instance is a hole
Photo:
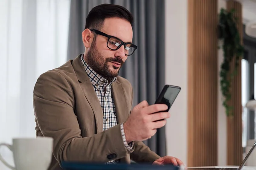
[[[244,26],[245,30],[245,26]],[[255,109],[245,108],[250,99],[256,99],[256,38],[243,31],[244,56],[241,60],[242,147],[246,155],[247,142],[256,139]]]

